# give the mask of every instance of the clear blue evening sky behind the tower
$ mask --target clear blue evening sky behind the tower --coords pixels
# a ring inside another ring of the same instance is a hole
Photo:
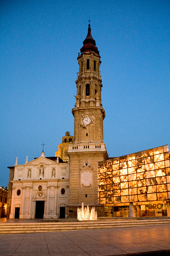
[[[1,0],[1,169],[55,156],[74,135],[77,56],[91,33],[101,55],[109,157],[170,145],[169,0]]]

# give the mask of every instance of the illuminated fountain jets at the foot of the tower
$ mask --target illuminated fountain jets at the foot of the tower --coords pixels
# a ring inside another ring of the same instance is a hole
[[[82,203],[82,208],[77,209],[77,219],[78,221],[86,221],[86,220],[97,220],[97,212],[95,211],[95,207],[92,207],[91,211],[89,206],[84,207],[84,203]]]

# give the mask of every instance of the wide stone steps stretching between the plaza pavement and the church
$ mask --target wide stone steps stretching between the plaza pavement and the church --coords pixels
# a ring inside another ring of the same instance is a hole
[[[136,227],[143,225],[170,224],[170,219],[155,220],[96,220],[82,222],[44,222],[44,223],[0,223],[0,234],[56,232],[94,228]]]

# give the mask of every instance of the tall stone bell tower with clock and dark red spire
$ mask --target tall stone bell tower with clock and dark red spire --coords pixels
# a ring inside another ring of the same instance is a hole
[[[74,143],[68,146],[70,157],[70,185],[68,217],[76,217],[77,207],[81,203],[98,205],[98,162],[107,159],[103,140],[103,120],[105,111],[102,107],[100,75],[101,56],[91,35],[88,34],[78,56],[77,95],[72,114],[75,118]]]

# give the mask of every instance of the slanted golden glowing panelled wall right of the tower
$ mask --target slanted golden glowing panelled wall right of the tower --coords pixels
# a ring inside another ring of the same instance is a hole
[[[99,203],[170,199],[168,145],[99,162]]]

